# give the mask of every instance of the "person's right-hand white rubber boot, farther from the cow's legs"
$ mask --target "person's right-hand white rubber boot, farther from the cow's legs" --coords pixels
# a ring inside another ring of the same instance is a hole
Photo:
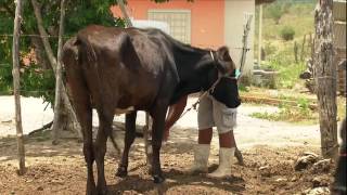
[[[235,147],[219,148],[219,166],[214,172],[207,174],[208,178],[222,179],[231,176],[231,159],[234,156]]]

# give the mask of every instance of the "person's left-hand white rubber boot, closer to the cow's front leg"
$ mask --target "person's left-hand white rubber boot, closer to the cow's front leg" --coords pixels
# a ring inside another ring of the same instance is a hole
[[[194,146],[194,162],[189,169],[190,174],[208,172],[209,144],[196,144]]]

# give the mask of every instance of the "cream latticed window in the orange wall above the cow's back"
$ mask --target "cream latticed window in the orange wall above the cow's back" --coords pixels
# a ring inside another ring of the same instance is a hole
[[[175,39],[191,43],[191,11],[149,10],[149,20],[167,23],[170,27],[170,35]]]

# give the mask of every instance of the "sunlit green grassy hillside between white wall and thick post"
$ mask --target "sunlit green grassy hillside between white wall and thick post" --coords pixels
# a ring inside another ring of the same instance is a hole
[[[294,1],[293,1],[294,2]],[[304,61],[300,61],[301,44],[304,36],[313,32],[313,10],[314,1],[303,1],[293,3],[292,1],[278,1],[277,3],[264,6],[264,24],[262,24],[262,48],[266,52],[266,61],[262,63],[264,68],[272,68],[280,73],[278,77],[278,88],[293,88],[299,83],[299,74],[306,68],[306,58],[310,57],[310,48],[308,48],[309,37],[306,38],[306,47],[304,48]],[[274,18],[268,12],[273,6],[282,6],[286,3],[286,9],[277,24]],[[280,4],[280,5],[279,5]],[[255,48],[258,48],[258,8],[256,12],[256,29],[255,29]],[[284,41],[281,38],[281,30],[290,26],[295,30],[295,37],[292,41]],[[294,42],[298,46],[299,62],[295,62]],[[254,50],[255,56],[258,50]]]

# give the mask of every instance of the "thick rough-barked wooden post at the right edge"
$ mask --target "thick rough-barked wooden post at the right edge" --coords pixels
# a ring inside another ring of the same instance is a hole
[[[333,0],[320,0],[314,14],[314,79],[319,103],[322,155],[337,155],[336,67],[333,48]]]

